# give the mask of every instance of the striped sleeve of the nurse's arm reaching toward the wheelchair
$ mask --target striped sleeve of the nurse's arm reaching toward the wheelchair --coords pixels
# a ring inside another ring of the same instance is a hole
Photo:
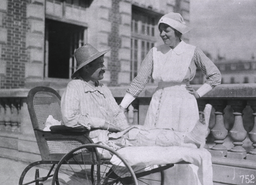
[[[151,49],[145,59],[141,63],[138,75],[132,81],[127,93],[136,98],[141,93],[142,89],[145,88],[148,80],[152,76],[153,69],[153,49]]]

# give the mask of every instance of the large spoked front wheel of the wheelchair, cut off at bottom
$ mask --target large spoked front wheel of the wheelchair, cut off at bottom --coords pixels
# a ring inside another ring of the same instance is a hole
[[[112,155],[121,161],[120,176],[111,172]],[[132,167],[116,151],[100,144],[84,144],[64,155],[56,167],[52,185],[58,185],[57,182],[59,185],[138,185]]]

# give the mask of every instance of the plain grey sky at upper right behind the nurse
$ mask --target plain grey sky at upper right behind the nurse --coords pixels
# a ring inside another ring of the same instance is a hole
[[[190,0],[189,43],[217,58],[256,57],[256,0]]]

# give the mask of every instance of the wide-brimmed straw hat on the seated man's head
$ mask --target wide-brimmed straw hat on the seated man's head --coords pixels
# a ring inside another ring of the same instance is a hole
[[[84,67],[86,64],[90,63],[91,61],[95,60],[96,58],[100,57],[101,55],[104,55],[106,52],[108,52],[110,50],[111,49],[105,50],[103,52],[99,52],[91,44],[85,44],[85,45],[81,46],[80,48],[78,48],[74,54],[78,68],[71,75],[71,78],[76,78],[78,76],[78,70],[80,68]]]

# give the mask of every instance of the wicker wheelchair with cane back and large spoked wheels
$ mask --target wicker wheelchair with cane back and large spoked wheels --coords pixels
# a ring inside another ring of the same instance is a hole
[[[52,185],[138,185],[138,182],[163,185],[163,170],[173,167],[173,164],[157,166],[152,170],[134,171],[118,152],[107,146],[94,144],[89,138],[90,131],[83,126],[52,126],[51,131],[43,131],[49,115],[61,120],[60,99],[58,92],[49,87],[35,87],[28,93],[28,110],[42,160],[31,163],[24,169],[19,185],[39,185],[39,182],[51,177]],[[107,155],[110,156],[106,157]],[[110,162],[113,155],[120,159],[124,166],[124,174],[117,176],[113,173],[113,165]],[[35,180],[24,182],[27,172],[32,167],[47,164],[51,165],[51,168],[45,177],[39,177],[36,170]]]

